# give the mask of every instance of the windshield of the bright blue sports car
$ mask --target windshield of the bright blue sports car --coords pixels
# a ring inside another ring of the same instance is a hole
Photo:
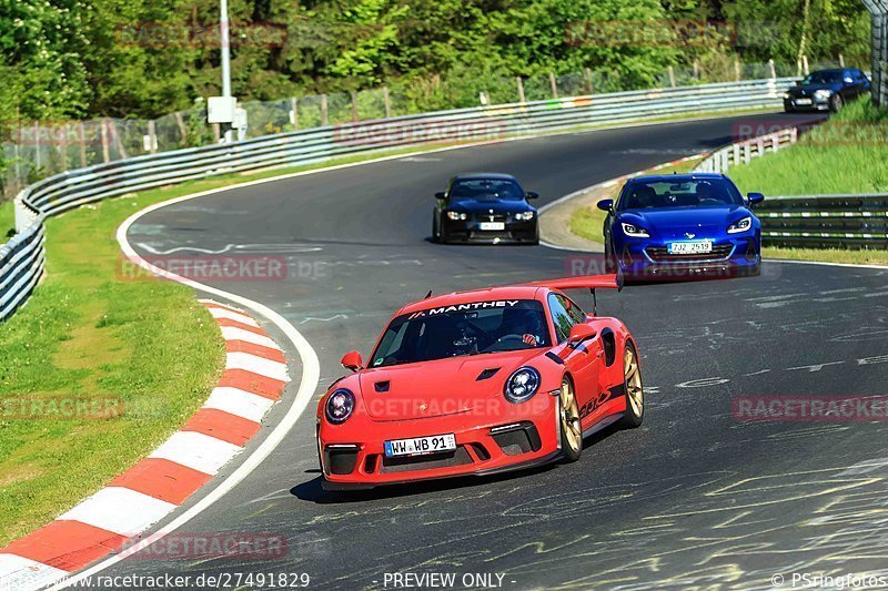
[[[617,211],[743,205],[737,187],[722,179],[634,182],[619,197]]]

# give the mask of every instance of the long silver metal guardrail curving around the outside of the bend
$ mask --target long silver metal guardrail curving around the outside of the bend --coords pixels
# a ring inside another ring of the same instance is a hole
[[[794,79],[616,92],[315,128],[137,156],[69,171],[16,198],[18,234],[0,247],[0,320],[27,300],[46,264],[43,221],[85,203],[219,174],[321,163],[335,156],[437,142],[523,135],[689,113],[775,109]]]

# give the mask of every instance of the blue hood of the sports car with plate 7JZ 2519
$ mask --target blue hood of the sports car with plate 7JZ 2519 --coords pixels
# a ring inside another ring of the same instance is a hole
[[[619,215],[619,222],[639,225],[650,232],[652,237],[697,238],[720,236],[727,227],[747,215],[741,205],[725,207],[664,207],[660,210],[632,210]]]

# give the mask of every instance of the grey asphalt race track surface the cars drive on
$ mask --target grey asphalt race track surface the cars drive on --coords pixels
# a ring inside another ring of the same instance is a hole
[[[428,243],[432,195],[448,175],[513,173],[546,203],[724,144],[736,122],[551,136],[301,176],[161,208],[129,238],[143,253],[287,256],[286,281],[216,285],[296,326],[320,357],[320,396],[343,374],[341,355],[366,355],[405,302],[561,276],[582,256]],[[127,559],[105,574],[307,572],[314,589],[359,589],[386,587],[386,573],[453,572],[457,588],[484,587],[466,573],[495,573],[505,589],[733,589],[770,588],[775,574],[789,584],[794,572],[885,571],[884,422],[741,422],[731,400],[886,394],[887,304],[886,272],[779,263],[761,277],[602,294],[599,313],[625,320],[640,347],[643,428],[604,431],[569,466],[341,498],[320,488],[312,406],[250,478],[185,528],[285,534],[285,556]],[[292,371],[297,381],[299,364]]]

